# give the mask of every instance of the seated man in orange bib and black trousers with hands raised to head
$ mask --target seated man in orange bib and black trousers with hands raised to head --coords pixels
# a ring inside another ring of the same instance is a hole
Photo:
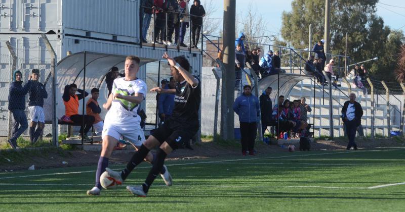
[[[76,92],[79,92],[80,94],[76,94]],[[77,85],[73,83],[65,86],[62,99],[63,103],[65,104],[65,116],[69,117],[74,124],[80,124],[80,131],[77,138],[82,139],[83,133],[83,138],[90,141],[90,138],[87,136],[87,132],[89,132],[94,123],[94,117],[78,114],[79,100],[88,95],[88,92],[82,89],[77,89]],[[83,125],[83,122],[85,125]]]

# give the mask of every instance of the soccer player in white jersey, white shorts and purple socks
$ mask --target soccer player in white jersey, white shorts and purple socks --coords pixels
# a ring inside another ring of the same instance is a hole
[[[112,85],[112,92],[103,108],[109,110],[104,119],[102,132],[103,146],[96,172],[96,185],[87,191],[88,195],[100,195],[100,176],[108,167],[108,158],[119,138],[124,136],[138,148],[145,141],[140,127],[141,118],[137,115],[139,104],[146,95],[146,83],[138,79],[140,60],[136,56],[128,56],[125,60],[125,77],[117,78]],[[149,153],[145,161],[152,163],[153,154]],[[152,163],[153,164],[153,163]],[[172,177],[166,167],[160,170],[166,185],[172,185]],[[117,182],[120,184],[121,182]]]

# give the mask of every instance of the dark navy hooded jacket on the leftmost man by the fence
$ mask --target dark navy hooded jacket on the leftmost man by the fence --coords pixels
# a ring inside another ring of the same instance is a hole
[[[25,109],[25,95],[31,88],[31,80],[22,86],[22,81],[16,81],[16,74],[20,71],[16,70],[13,73],[13,82],[10,84],[9,89],[9,111],[24,110]]]

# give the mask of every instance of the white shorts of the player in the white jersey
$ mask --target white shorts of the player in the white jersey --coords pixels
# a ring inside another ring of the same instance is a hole
[[[101,133],[101,137],[104,136],[111,136],[117,140],[120,139],[121,136],[133,143],[135,146],[141,146],[142,143],[145,141],[145,135],[141,127],[138,124],[131,124],[131,122],[123,122],[123,123],[108,123],[104,122],[103,132]]]

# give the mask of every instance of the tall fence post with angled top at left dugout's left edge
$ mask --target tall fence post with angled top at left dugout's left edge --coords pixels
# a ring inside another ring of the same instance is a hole
[[[55,146],[59,146],[58,142],[58,118],[56,117],[56,88],[58,86],[57,84],[57,71],[56,71],[56,53],[54,48],[52,47],[51,43],[48,40],[48,37],[46,34],[41,34],[42,39],[45,42],[45,46],[47,47],[47,50],[51,56],[52,63],[51,63],[51,75],[52,75],[52,144]]]

